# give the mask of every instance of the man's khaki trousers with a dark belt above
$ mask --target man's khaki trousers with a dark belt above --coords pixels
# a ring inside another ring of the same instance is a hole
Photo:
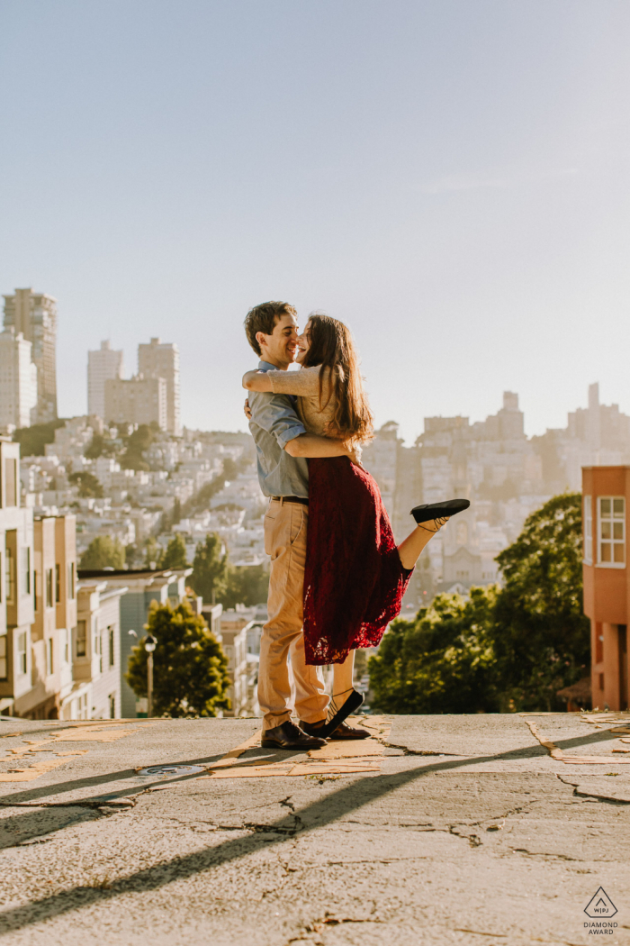
[[[269,620],[261,637],[258,702],[263,729],[281,726],[291,718],[291,683],[288,657],[296,681],[296,713],[305,723],[324,719],[329,698],[320,667],[304,660],[302,607],[308,506],[298,502],[269,501],[264,517],[264,551],[271,557]]]

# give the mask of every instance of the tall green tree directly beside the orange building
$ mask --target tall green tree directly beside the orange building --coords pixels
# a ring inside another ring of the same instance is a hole
[[[497,556],[503,587],[494,617],[502,709],[561,710],[555,693],[587,675],[582,604],[582,497],[553,497]]]

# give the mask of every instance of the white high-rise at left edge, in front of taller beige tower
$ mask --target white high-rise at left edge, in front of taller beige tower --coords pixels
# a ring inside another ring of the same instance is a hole
[[[37,408],[37,366],[22,332],[0,333],[0,427],[30,427]]]

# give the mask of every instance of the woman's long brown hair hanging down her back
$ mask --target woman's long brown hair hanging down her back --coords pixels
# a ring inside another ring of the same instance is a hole
[[[322,366],[319,373],[319,407],[323,410],[331,398],[334,401],[330,434],[365,444],[374,436],[374,421],[348,326],[332,319],[330,315],[314,312],[309,316],[306,331],[310,344],[302,367]],[[328,398],[323,404],[325,380],[328,382]]]

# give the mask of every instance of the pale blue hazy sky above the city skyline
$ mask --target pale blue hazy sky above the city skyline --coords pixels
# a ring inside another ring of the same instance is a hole
[[[377,426],[630,413],[626,0],[0,0],[0,292],[87,352],[177,342],[246,429],[247,309],[352,329]]]

